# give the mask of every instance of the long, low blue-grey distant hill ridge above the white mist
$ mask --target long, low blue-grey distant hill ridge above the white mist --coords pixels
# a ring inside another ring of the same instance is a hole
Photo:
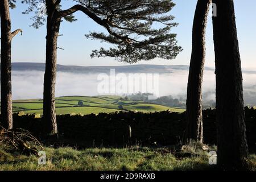
[[[13,71],[44,71],[44,63],[13,63]],[[109,73],[110,69],[115,69],[115,72],[122,73],[172,73],[174,71],[184,70],[188,71],[188,65],[124,65],[124,66],[96,66],[96,67],[82,67],[72,65],[57,64],[58,72],[69,73]],[[212,68],[205,68],[212,70]]]

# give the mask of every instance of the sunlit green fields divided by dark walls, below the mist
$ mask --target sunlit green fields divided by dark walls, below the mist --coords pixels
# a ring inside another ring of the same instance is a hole
[[[82,105],[79,105],[82,102]],[[56,98],[57,114],[98,114],[113,113],[115,111],[140,111],[149,113],[154,111],[170,110],[181,113],[184,109],[173,108],[158,104],[150,104],[144,101],[124,100],[120,96],[66,96]],[[13,111],[18,113],[24,111],[26,114],[43,114],[43,100],[15,100]]]

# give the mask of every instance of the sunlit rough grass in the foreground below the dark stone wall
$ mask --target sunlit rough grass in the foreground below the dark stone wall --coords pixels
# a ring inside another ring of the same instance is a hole
[[[215,147],[216,148],[216,147]],[[215,149],[214,147],[212,150]],[[173,150],[173,148],[172,148]],[[0,170],[211,170],[208,152],[191,146],[185,152],[170,152],[170,147],[45,148],[46,165],[38,156],[9,154],[0,150]],[[188,156],[188,154],[192,154]],[[250,155],[251,170],[256,170],[256,155]]]

